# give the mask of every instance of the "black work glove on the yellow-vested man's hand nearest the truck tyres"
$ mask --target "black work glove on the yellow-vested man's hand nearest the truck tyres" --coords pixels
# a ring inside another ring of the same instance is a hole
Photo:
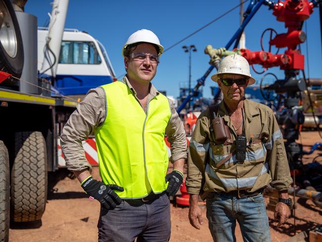
[[[122,202],[122,199],[112,190],[124,191],[121,186],[106,185],[94,180],[92,176],[83,181],[81,185],[88,195],[99,200],[106,209],[113,209]]]

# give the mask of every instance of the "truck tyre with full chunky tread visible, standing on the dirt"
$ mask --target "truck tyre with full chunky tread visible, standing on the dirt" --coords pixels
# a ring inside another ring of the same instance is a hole
[[[47,150],[39,131],[15,133],[15,159],[11,170],[11,219],[40,220],[47,202]]]

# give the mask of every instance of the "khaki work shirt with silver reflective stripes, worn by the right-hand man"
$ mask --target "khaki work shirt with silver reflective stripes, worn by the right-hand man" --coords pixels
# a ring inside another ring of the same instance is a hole
[[[219,104],[218,113],[229,126],[233,139],[230,144],[215,140],[210,131],[209,109],[196,123],[189,144],[187,191],[191,194],[231,190],[249,192],[270,185],[286,190],[292,183],[284,140],[273,111],[266,105],[244,100],[247,149],[245,161],[237,161],[236,132],[226,105]],[[230,154],[233,154],[230,158]],[[216,164],[227,159],[221,166]]]

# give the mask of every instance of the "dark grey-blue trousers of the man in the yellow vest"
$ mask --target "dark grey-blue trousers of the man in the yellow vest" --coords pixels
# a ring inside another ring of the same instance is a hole
[[[99,242],[168,242],[170,201],[166,194],[149,201],[123,200],[114,209],[101,206]]]

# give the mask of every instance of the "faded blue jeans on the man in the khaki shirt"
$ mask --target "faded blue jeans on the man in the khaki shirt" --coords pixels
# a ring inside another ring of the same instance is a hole
[[[244,242],[270,242],[263,194],[237,198],[224,192],[211,193],[207,197],[206,207],[214,242],[236,242],[236,220]]]

